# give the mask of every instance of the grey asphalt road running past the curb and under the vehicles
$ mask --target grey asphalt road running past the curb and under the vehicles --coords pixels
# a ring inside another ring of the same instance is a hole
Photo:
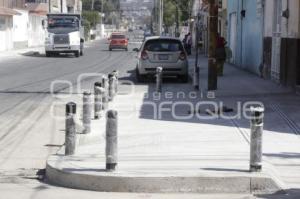
[[[46,159],[64,143],[64,123],[49,114],[54,93],[77,92],[78,84],[92,85],[95,78],[78,82],[82,74],[120,72],[134,81],[138,44],[131,37],[129,51],[108,51],[106,40],[88,44],[80,58],[25,53],[0,59],[0,199],[34,198],[254,198],[251,195],[97,193],[48,185],[43,181]],[[71,83],[54,87],[56,80]],[[84,83],[83,83],[84,82]],[[267,197],[266,197],[267,198]],[[278,198],[281,198],[279,196]],[[296,197],[295,197],[296,198]]]

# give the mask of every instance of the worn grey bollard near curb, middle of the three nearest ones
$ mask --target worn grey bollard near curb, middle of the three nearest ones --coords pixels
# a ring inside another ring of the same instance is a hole
[[[106,121],[106,170],[114,171],[118,162],[118,112],[107,112]]]

